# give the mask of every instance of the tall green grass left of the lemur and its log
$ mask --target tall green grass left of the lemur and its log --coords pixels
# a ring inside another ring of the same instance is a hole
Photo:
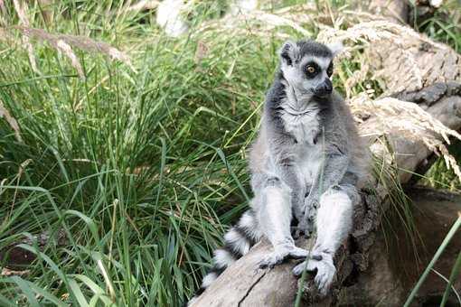
[[[0,276],[0,305],[180,305],[248,206],[246,150],[281,41],[212,31],[170,39],[155,13],[123,13],[120,1],[28,4],[32,27],[108,42],[136,71],[76,50],[80,79],[49,44],[33,42],[39,75],[19,33],[0,41],[0,101],[23,139],[0,120],[0,250],[54,237],[44,248],[22,245],[37,260],[28,274]],[[8,2],[4,12],[2,26],[18,23]],[[194,14],[200,23],[216,8]]]

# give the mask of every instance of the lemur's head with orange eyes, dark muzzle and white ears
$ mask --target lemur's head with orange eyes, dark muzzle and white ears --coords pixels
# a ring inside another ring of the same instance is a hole
[[[298,91],[326,98],[333,91],[334,51],[313,41],[286,42],[280,51],[281,70]]]

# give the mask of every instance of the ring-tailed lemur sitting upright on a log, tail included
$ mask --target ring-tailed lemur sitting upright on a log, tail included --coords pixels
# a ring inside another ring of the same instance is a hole
[[[224,236],[214,253],[214,266],[202,281],[202,293],[261,237],[274,251],[260,267],[272,267],[287,258],[306,258],[290,233],[310,236],[315,247],[294,273],[316,271],[315,284],[325,295],[334,280],[334,253],[353,223],[357,189],[366,178],[368,154],[361,143],[349,108],[334,90],[335,50],[314,41],[286,42],[280,66],[269,89],[259,136],[249,153],[251,209]]]

